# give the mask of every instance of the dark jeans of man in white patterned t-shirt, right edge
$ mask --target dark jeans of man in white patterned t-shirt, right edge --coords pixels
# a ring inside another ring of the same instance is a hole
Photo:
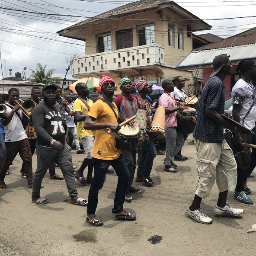
[[[256,126],[252,129],[253,132],[256,133]],[[256,136],[253,134],[247,134],[247,142],[249,144],[256,144]],[[251,163],[250,167],[247,170],[242,170],[237,167],[237,186],[236,192],[243,191],[244,183],[246,182],[247,178],[253,172],[254,168],[256,167],[256,148],[252,148],[251,152]]]

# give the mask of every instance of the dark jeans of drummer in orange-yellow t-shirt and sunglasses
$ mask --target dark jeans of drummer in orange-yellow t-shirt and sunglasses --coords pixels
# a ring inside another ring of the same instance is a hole
[[[125,202],[125,192],[130,181],[130,173],[125,162],[125,157],[121,154],[115,160],[93,158],[93,165],[94,176],[88,195],[87,214],[93,214],[96,212],[99,190],[103,187],[106,172],[110,165],[114,168],[115,173],[118,176],[112,213],[121,212]]]

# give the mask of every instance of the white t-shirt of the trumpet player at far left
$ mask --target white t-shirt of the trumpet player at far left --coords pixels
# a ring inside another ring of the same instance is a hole
[[[5,106],[6,106],[6,113],[10,114],[12,109],[7,105]],[[20,109],[18,110],[18,113],[22,118],[22,112]],[[22,122],[20,121],[19,116],[16,113],[13,114],[13,118],[11,122],[4,127],[4,131],[5,131],[5,142],[22,141],[28,138],[22,126]]]

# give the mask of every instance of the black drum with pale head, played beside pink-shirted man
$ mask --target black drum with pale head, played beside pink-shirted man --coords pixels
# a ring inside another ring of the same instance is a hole
[[[193,133],[196,122],[196,109],[189,108],[180,111],[177,115],[177,131],[183,134]]]

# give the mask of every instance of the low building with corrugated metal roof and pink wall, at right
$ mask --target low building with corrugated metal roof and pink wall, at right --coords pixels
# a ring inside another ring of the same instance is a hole
[[[256,61],[256,27],[191,51],[177,65],[177,68],[183,71],[192,69],[203,70],[204,85],[213,70],[211,64],[214,57],[224,53],[230,55],[233,66],[232,75],[227,76],[224,80],[226,99],[228,99],[231,97],[232,87],[241,77],[240,73],[235,70],[238,62],[245,59]]]

